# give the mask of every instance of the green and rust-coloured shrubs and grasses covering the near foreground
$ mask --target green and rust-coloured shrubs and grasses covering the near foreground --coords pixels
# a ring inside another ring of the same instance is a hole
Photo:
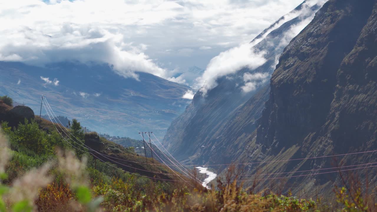
[[[72,123],[70,132],[84,142],[80,123]],[[82,147],[71,146],[40,124],[25,120],[11,129],[2,123],[0,212],[377,211],[373,195],[364,195],[357,183],[335,188],[337,201],[329,204],[289,193],[253,193],[230,177],[208,190],[200,184],[150,180],[95,161]]]

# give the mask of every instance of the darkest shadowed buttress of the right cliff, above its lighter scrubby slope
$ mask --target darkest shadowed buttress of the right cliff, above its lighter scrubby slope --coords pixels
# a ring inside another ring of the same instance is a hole
[[[374,1],[357,2],[330,1],[287,46],[271,78],[257,142],[279,151],[302,142],[329,118],[338,69],[355,47]]]

